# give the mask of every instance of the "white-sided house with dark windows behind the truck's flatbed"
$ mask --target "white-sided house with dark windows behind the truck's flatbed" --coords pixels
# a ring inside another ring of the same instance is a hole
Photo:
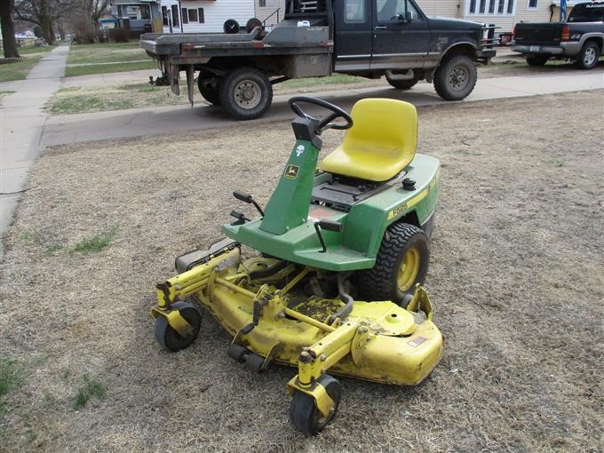
[[[215,33],[226,20],[245,28],[255,16],[254,0],[161,0],[164,33]]]

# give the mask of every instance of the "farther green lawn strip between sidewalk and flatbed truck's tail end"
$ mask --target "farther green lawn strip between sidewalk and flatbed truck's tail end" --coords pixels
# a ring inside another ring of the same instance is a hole
[[[68,65],[129,62],[151,60],[139,45],[131,43],[72,44],[69,49]]]

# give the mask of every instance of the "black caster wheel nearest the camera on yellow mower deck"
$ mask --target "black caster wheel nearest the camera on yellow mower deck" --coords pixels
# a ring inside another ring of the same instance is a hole
[[[325,391],[334,401],[335,407],[327,417],[322,416],[316,407],[314,398],[306,393],[297,390],[290,405],[290,421],[300,431],[306,434],[316,435],[321,433],[335,417],[338,411],[338,404],[342,396],[342,387],[338,380],[329,374],[324,374],[317,379],[317,382],[325,387]]]

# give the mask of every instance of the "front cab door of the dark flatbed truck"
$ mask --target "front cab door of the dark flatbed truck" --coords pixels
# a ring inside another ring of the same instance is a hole
[[[423,68],[430,30],[411,0],[373,0],[371,69]]]

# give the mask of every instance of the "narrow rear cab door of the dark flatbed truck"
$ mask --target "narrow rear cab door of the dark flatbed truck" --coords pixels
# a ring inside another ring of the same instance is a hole
[[[370,68],[373,36],[371,2],[341,0],[334,2],[336,71],[360,71]]]

